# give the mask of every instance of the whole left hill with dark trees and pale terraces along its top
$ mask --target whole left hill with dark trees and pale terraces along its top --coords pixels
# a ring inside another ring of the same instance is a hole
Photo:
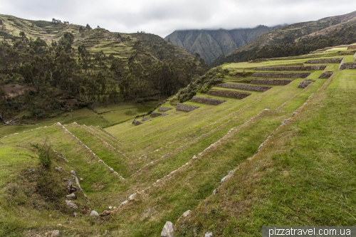
[[[66,100],[79,107],[162,100],[206,70],[200,58],[149,33],[111,33],[56,19],[4,15],[0,24],[2,117],[21,110],[43,117],[75,109]],[[23,90],[12,90],[16,85]]]

